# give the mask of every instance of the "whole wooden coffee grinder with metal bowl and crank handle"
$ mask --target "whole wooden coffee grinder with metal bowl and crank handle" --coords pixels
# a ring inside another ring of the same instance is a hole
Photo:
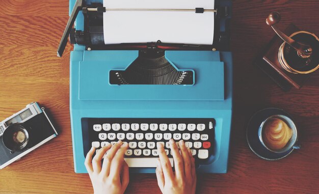
[[[300,31],[293,24],[281,32],[276,26],[280,19],[278,12],[267,17],[266,23],[278,36],[265,48],[262,60],[256,60],[255,64],[283,89],[289,89],[289,85],[300,89],[309,75],[319,68],[319,39],[312,33]],[[267,67],[269,65],[272,68]]]

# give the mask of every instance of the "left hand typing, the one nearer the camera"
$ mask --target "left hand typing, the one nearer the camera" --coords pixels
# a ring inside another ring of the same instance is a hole
[[[122,145],[122,142],[118,141],[112,147],[111,145],[102,147],[93,159],[92,155],[95,152],[95,148],[92,147],[88,152],[85,159],[85,167],[89,173],[95,194],[124,193],[129,181],[128,165],[124,161],[124,153],[127,147],[128,144]],[[104,156],[107,151],[108,153]]]

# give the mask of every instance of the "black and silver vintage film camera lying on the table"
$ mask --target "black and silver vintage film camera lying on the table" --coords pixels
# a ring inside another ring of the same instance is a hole
[[[56,137],[44,107],[32,102],[0,122],[0,169]]]

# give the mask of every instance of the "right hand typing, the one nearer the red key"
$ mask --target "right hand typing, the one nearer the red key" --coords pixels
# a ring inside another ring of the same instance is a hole
[[[179,141],[180,153],[174,140],[170,140],[175,172],[165,153],[164,145],[157,143],[159,161],[156,168],[157,183],[167,193],[194,194],[196,191],[195,159],[184,141]]]

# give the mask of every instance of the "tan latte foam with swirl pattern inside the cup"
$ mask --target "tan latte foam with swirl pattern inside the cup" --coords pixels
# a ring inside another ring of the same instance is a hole
[[[273,118],[264,124],[262,141],[270,149],[279,150],[284,148],[293,136],[293,130],[278,118]]]

